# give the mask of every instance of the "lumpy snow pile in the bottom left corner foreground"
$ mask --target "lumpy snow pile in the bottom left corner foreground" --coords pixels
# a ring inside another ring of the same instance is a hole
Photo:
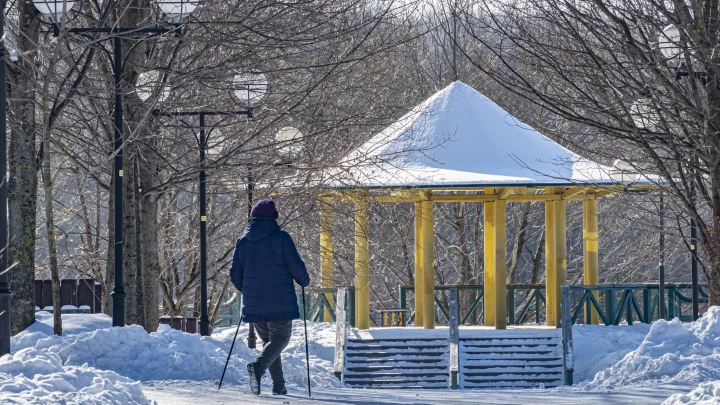
[[[140,383],[27,348],[0,358],[0,403],[148,404]]]

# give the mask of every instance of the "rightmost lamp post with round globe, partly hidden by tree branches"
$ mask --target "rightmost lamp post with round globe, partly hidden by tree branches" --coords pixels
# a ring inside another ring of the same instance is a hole
[[[666,62],[670,69],[675,70],[675,78],[680,79],[690,75],[690,70],[693,66],[686,66],[686,62],[683,60],[685,56],[685,45],[680,30],[674,25],[668,25],[663,29],[663,32],[658,36],[658,48],[660,53],[666,58]],[[692,61],[692,55],[690,55]],[[693,64],[695,65],[695,64]],[[704,72],[693,72],[693,76],[702,80],[703,84],[706,82],[706,74]],[[694,175],[694,170],[691,170],[691,174]],[[694,177],[694,176],[692,176]],[[690,180],[689,194],[690,199],[695,199],[695,184],[694,179]],[[692,280],[692,319],[696,321],[699,318],[700,309],[700,295],[698,293],[698,263],[697,263],[697,225],[695,224],[695,218],[690,216],[690,271]]]

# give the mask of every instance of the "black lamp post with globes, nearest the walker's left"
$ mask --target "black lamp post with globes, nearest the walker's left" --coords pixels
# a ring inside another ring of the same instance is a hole
[[[143,76],[144,75],[144,76]],[[142,101],[147,101],[152,95],[148,92],[149,87],[154,87],[152,82],[159,82],[160,74],[156,71],[145,72],[138,77],[138,83],[135,91]],[[142,80],[141,80],[142,78]],[[156,83],[157,84],[157,83]],[[151,87],[151,88],[152,88]],[[246,115],[248,118],[253,116],[253,105],[260,101],[267,92],[267,80],[265,75],[261,73],[250,75],[236,75],[233,80],[233,88],[235,96],[245,103],[247,108],[238,111],[163,111],[154,110],[156,116],[182,117],[197,116],[200,126],[200,134],[198,137],[198,148],[200,149],[200,173],[199,191],[200,191],[200,335],[210,336],[210,318],[208,316],[208,296],[207,296],[207,174],[205,173],[205,153],[207,151],[208,137],[205,133],[205,117],[207,116],[231,116]],[[164,101],[170,94],[167,88],[162,90],[160,100]]]

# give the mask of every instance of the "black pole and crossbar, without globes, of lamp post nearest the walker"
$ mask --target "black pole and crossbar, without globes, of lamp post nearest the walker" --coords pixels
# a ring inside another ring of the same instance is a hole
[[[155,110],[156,116],[194,116],[200,120],[200,136],[198,147],[200,149],[200,335],[210,336],[210,318],[207,308],[207,174],[205,173],[205,151],[207,150],[207,137],[205,134],[205,116],[208,115],[247,115],[252,117],[252,109],[240,111],[162,111]]]

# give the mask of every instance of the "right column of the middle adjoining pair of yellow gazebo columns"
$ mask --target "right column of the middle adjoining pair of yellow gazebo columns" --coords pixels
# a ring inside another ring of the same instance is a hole
[[[493,202],[495,220],[495,329],[507,328],[507,205]]]

